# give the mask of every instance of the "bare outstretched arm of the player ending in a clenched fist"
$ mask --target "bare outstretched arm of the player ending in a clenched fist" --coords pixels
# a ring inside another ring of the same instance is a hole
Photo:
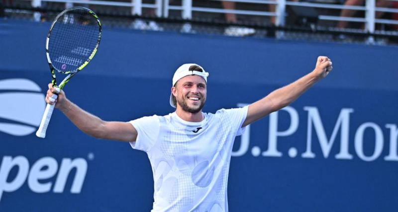
[[[325,56],[318,57],[313,71],[289,85],[274,90],[257,102],[250,104],[242,127],[288,106],[315,84],[315,82],[324,78],[330,71],[332,71],[332,62],[330,59]]]

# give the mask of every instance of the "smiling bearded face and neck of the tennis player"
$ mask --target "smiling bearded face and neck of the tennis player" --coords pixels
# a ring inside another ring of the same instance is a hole
[[[206,81],[198,75],[188,75],[179,79],[171,88],[177,100],[177,115],[185,121],[203,120],[201,110],[206,102]]]

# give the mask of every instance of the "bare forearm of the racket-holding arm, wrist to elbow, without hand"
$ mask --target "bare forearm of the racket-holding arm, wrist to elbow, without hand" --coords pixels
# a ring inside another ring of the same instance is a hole
[[[97,116],[84,111],[67,99],[59,109],[84,133],[95,138],[104,138],[105,122]]]

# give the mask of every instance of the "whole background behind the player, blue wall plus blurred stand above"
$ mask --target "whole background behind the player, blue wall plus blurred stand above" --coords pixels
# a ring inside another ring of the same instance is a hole
[[[397,0],[1,0],[0,212],[152,209],[145,152],[86,136],[58,110],[47,137],[34,135],[51,81],[48,28],[72,6],[99,15],[102,39],[64,90],[108,121],[174,112],[184,63],[210,73],[203,111],[214,113],[328,56],[325,79],[236,138],[229,211],[398,211]]]

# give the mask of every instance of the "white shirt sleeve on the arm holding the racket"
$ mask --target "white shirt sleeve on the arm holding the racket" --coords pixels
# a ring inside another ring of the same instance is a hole
[[[134,149],[149,151],[155,145],[160,130],[158,116],[146,116],[129,122],[137,130],[136,141],[131,141],[130,145]]]

